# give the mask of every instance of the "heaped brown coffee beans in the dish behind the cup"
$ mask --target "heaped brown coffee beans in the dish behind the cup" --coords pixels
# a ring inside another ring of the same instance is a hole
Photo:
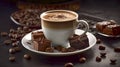
[[[38,9],[19,10],[12,14],[12,18],[23,26],[40,27],[40,13],[41,11]]]

